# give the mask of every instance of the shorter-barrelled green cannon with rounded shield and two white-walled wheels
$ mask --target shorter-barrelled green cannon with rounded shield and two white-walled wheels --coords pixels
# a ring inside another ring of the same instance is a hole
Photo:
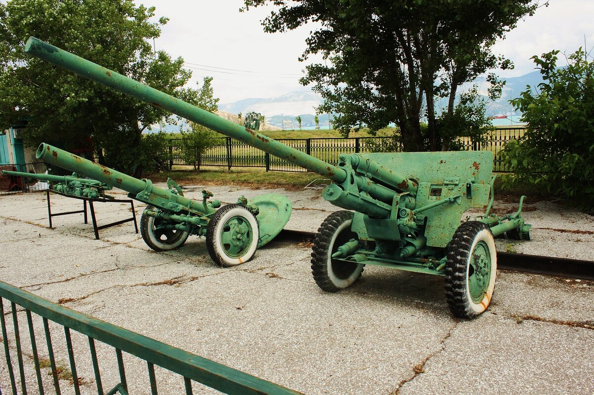
[[[42,143],[37,159],[97,179],[99,183],[128,192],[128,197],[146,203],[140,218],[140,233],[155,251],[181,247],[190,234],[206,236],[208,254],[219,266],[234,266],[250,260],[257,248],[272,240],[289,221],[292,205],[283,195],[269,193],[251,200],[244,196],[222,208],[213,193],[202,191],[202,201],[188,199],[172,179],[168,189],[151,180],[139,180],[112,168]],[[52,176],[55,177],[55,176]],[[219,209],[220,208],[220,209]]]

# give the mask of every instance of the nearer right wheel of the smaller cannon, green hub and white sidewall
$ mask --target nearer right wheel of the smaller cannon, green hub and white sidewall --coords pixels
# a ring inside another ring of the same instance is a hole
[[[259,237],[254,214],[242,205],[226,205],[208,223],[206,247],[217,265],[235,266],[252,259]]]

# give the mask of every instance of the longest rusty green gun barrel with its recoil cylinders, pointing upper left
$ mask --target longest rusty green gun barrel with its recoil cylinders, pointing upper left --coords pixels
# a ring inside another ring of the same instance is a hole
[[[134,79],[125,77],[115,71],[111,71],[89,60],[52,46],[35,37],[30,37],[27,40],[25,52],[75,72],[82,77],[107,85],[122,93],[146,101],[153,106],[189,119],[192,122],[206,126],[209,129],[245,142],[264,152],[268,152],[268,154],[275,155],[290,163],[306,168],[308,171],[328,177],[328,179],[331,179],[337,184],[355,184],[358,190],[368,194],[370,197],[370,199],[361,200],[356,196],[342,193],[340,190],[337,190],[339,188],[338,186],[333,186],[333,190],[327,190],[327,193],[324,193],[324,198],[339,207],[353,209],[376,217],[386,217],[390,215],[389,205],[397,193],[409,192],[412,196],[416,194],[417,184],[415,181],[409,180],[407,177],[397,174],[361,155],[345,155],[340,158],[339,166],[336,167],[333,164],[326,163],[298,149],[274,141],[251,129],[244,128],[244,126],[237,125],[171,95],[134,81]],[[43,154],[43,152],[38,151],[38,154]],[[62,167],[65,166],[62,165]],[[360,167],[359,170],[356,170],[358,174],[352,177],[349,176],[349,179],[347,179],[347,174],[357,167]],[[125,183],[123,177],[119,178]],[[136,189],[142,187],[141,184],[137,184],[140,182],[143,181],[137,180],[134,182]],[[122,189],[129,190],[123,185]],[[347,188],[344,189],[346,190]],[[407,205],[414,206],[413,200],[407,202]]]

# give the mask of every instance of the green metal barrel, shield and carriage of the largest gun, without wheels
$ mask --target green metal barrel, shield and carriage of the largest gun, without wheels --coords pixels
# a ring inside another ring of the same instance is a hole
[[[342,154],[334,167],[34,37],[26,52],[331,179],[323,198],[355,211],[351,230],[360,241],[356,248],[347,243],[342,251],[349,255],[336,260],[444,275],[462,214],[492,204],[491,151]],[[529,237],[521,202],[515,215],[498,218],[488,211],[478,220],[493,234]]]

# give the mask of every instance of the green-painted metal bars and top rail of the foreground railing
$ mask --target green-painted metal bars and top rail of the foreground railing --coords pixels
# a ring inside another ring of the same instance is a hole
[[[225,394],[234,395],[298,395],[300,393],[279,386],[278,384],[270,383],[270,381],[263,380],[261,378],[249,375],[237,369],[230,368],[226,365],[219,364],[218,362],[211,361],[210,359],[203,358],[195,355],[194,353],[184,351],[179,348],[167,345],[157,340],[151,339],[140,335],[139,333],[131,332],[130,330],[124,329],[119,326],[107,323],[97,318],[87,316],[86,314],[79,313],[78,311],[71,310],[59,304],[50,302],[44,298],[38,297],[30,292],[23,291],[23,289],[12,286],[8,283],[0,281],[0,311],[4,311],[2,305],[2,298],[11,302],[12,308],[12,319],[15,329],[18,328],[17,320],[17,305],[24,308],[27,311],[28,317],[30,313],[35,313],[43,317],[44,327],[46,328],[46,339],[48,340],[48,349],[50,351],[50,362],[52,364],[52,372],[55,376],[55,357],[53,355],[53,343],[49,336],[49,321],[53,321],[61,326],[67,333],[67,340],[69,340],[69,330],[75,330],[83,335],[89,337],[89,345],[91,351],[91,359],[93,362],[93,368],[95,372],[95,380],[97,387],[102,386],[102,373],[99,369],[99,359],[97,358],[95,349],[95,342],[102,342],[106,345],[113,346],[116,350],[116,356],[118,358],[118,370],[120,383],[108,391],[109,394],[115,394],[119,391],[121,394],[126,394],[127,384],[125,380],[124,361],[122,359],[121,352],[126,352],[134,355],[140,359],[147,361],[150,367],[152,365],[158,365],[169,371],[184,377],[185,386],[188,388],[190,380],[197,381],[198,383],[205,384],[208,387],[214,388],[215,390],[221,391]],[[11,379],[12,393],[17,395],[17,386],[15,380],[15,374],[12,367],[13,360],[10,356],[10,349],[8,348],[9,337],[6,330],[5,315],[0,314],[0,323],[2,324],[2,338],[4,339],[4,351],[5,359],[7,361],[7,368]],[[33,331],[33,325],[29,326],[30,330]],[[15,331],[18,335],[18,330]],[[30,337],[34,338],[34,335]],[[10,340],[12,342],[12,339]],[[68,349],[72,349],[72,342],[68,342]],[[72,355],[75,355],[73,353]],[[73,357],[74,358],[74,357]],[[23,361],[23,353],[21,351],[20,340],[18,343],[17,359]],[[71,361],[72,362],[72,361]],[[74,363],[74,362],[72,362]],[[18,373],[21,378],[21,393],[27,393],[26,383],[29,378],[25,378],[25,369],[19,364]],[[72,366],[72,365],[71,365]],[[75,372],[75,371],[74,371]],[[154,370],[153,370],[154,374]],[[113,380],[118,380],[113,377],[109,380],[110,383]],[[39,380],[39,375],[37,375]],[[42,386],[42,383],[37,383]],[[154,376],[151,377],[151,391],[157,393],[156,381]],[[190,387],[191,388],[191,387]],[[61,393],[59,390],[59,383],[55,377],[55,389],[56,393]],[[77,393],[80,393],[78,386],[75,387]],[[166,393],[171,393],[171,390],[166,390]],[[99,393],[103,393],[103,389],[99,390]],[[191,393],[191,392],[190,392]]]

